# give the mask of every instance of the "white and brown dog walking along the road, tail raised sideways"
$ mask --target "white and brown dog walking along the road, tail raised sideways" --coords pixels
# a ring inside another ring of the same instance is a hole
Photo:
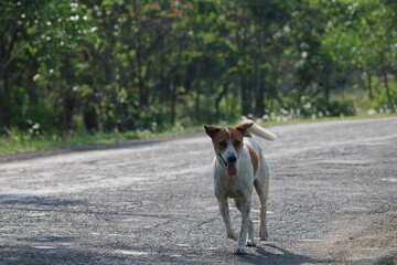
[[[266,241],[267,200],[269,170],[260,146],[253,135],[275,140],[276,136],[253,121],[234,127],[204,125],[205,132],[214,145],[214,191],[228,239],[237,241],[235,254],[246,254],[246,246],[255,246],[253,221],[249,218],[251,194],[255,187],[260,201],[259,237]],[[230,225],[228,198],[234,199],[242,212],[242,226],[237,234]],[[248,240],[247,240],[248,235]]]

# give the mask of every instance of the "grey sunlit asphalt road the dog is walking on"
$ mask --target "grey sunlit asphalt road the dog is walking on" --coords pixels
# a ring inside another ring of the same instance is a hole
[[[0,163],[0,264],[397,264],[397,118],[268,129],[269,241],[248,255],[203,132]]]

